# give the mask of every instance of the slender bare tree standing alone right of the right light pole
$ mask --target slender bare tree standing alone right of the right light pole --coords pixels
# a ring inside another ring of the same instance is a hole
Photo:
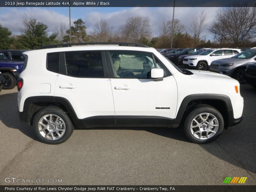
[[[190,23],[190,30],[194,38],[194,46],[196,47],[199,41],[203,38],[202,33],[206,29],[207,14],[202,11],[200,14],[196,14]]]

